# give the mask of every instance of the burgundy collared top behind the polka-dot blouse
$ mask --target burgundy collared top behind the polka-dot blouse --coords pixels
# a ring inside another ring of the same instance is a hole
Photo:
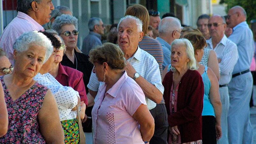
[[[84,87],[83,73],[59,63],[59,72],[55,79],[63,86],[69,86],[79,92],[81,101],[88,105],[88,99]]]

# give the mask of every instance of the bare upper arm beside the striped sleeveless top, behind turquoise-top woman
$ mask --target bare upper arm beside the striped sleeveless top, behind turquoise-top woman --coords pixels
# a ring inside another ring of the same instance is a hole
[[[209,58],[208,58],[208,67],[212,69],[215,76],[217,77],[218,81],[220,80],[220,72],[219,72],[219,62],[217,59],[217,55],[215,51],[211,50],[209,52]]]

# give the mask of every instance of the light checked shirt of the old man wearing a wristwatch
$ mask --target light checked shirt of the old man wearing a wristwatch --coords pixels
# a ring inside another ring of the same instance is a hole
[[[162,85],[162,79],[160,76],[159,66],[157,61],[152,55],[145,52],[144,50],[138,47],[135,54],[129,58],[127,61],[131,63],[137,73],[140,74],[144,79],[149,83],[155,85],[161,93],[164,93],[164,86]],[[98,91],[99,90],[99,81],[95,73],[91,73],[90,81],[87,87],[90,90]],[[97,97],[95,99],[98,99]],[[156,107],[156,103],[146,97],[146,102],[148,109],[151,110]]]

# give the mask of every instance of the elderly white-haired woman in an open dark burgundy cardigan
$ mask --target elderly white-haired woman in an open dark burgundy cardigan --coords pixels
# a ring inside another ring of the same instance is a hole
[[[172,70],[163,80],[169,144],[201,144],[204,87],[194,48],[187,39],[174,40],[171,48]]]

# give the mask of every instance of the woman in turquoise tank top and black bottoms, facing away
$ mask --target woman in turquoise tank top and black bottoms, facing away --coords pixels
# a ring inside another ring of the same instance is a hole
[[[219,95],[218,79],[211,68],[199,64],[204,54],[204,47],[207,45],[203,36],[188,33],[184,38],[188,39],[194,47],[195,59],[198,66],[197,71],[201,74],[204,83],[202,142],[216,144],[216,139],[220,139],[222,136],[220,120],[222,105]]]

